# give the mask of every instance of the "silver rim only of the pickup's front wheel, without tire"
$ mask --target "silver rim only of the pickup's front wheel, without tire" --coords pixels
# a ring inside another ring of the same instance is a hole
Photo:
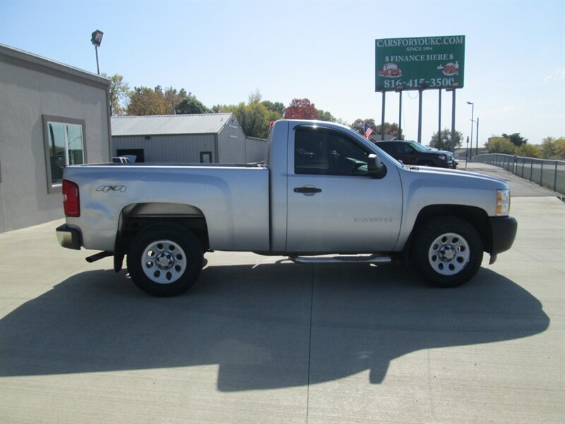
[[[463,270],[470,257],[467,240],[455,232],[446,232],[437,237],[428,252],[432,269],[443,276],[453,276]]]

